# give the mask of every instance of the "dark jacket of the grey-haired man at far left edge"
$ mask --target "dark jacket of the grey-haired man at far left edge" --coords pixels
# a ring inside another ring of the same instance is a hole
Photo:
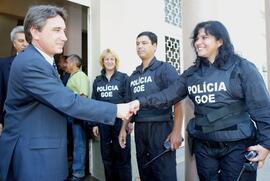
[[[7,97],[7,85],[10,67],[15,56],[1,58],[0,60],[0,123],[4,123],[4,103]]]

